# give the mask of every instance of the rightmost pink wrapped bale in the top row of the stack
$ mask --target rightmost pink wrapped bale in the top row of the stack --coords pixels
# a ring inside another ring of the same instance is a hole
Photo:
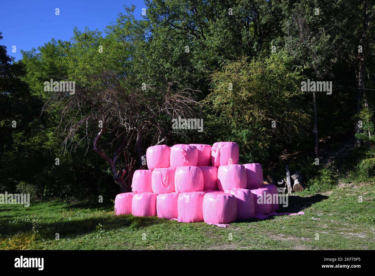
[[[211,162],[215,167],[238,164],[240,151],[235,142],[216,142],[211,147]]]

